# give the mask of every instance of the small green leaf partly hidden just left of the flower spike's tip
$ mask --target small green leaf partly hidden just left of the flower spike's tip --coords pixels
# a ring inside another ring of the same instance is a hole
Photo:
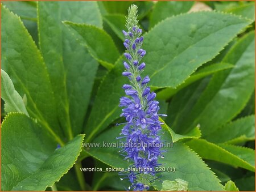
[[[121,14],[113,14],[113,15],[105,15],[103,18],[106,23],[112,28],[115,34],[122,41],[125,40],[125,36],[122,33],[122,30],[126,29],[125,27],[125,15]]]

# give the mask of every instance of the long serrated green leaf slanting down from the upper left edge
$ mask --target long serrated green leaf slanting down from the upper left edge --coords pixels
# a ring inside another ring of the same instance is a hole
[[[55,100],[43,58],[18,16],[2,7],[1,22],[1,67],[13,80],[19,95],[27,96],[27,110],[30,116],[47,127],[61,143],[62,131],[57,120]]]

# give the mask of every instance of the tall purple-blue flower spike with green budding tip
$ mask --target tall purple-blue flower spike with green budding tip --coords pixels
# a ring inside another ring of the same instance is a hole
[[[121,123],[125,126],[122,128],[122,136],[118,139],[125,139],[124,147],[119,152],[122,152],[131,165],[119,174],[130,180],[129,190],[144,191],[158,178],[155,175],[156,167],[160,165],[158,158],[163,157],[162,141],[158,135],[162,122],[159,121],[159,102],[154,100],[156,93],[150,92],[150,87],[147,86],[150,78],[141,75],[146,67],[146,64],[141,62],[146,50],[141,48],[144,37],[142,29],[138,27],[137,12],[137,6],[129,7],[126,18],[127,31],[123,31],[126,38],[123,42],[126,48],[124,56],[127,61],[123,62],[125,71],[122,75],[127,76],[130,83],[123,85],[127,96],[121,97],[119,106],[125,107],[121,116],[125,117],[127,122]]]

